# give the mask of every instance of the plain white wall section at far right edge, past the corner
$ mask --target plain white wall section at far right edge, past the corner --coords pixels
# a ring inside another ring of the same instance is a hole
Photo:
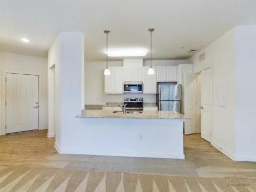
[[[236,156],[256,161],[256,25],[236,27]]]

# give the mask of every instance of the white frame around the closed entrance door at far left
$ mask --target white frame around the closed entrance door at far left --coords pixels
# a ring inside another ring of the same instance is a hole
[[[0,129],[0,135],[6,135],[6,74],[7,73],[13,73],[13,74],[21,74],[21,75],[36,75],[38,76],[38,103],[39,103],[39,110],[38,110],[38,129],[40,130],[40,127],[42,127],[42,74],[36,74],[36,73],[28,73],[23,71],[12,71],[12,70],[2,70],[2,122],[1,122],[1,129]],[[1,90],[1,89],[0,89]]]

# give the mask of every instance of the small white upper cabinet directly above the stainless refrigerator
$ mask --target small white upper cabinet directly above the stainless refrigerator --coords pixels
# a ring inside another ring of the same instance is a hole
[[[158,82],[177,81],[177,66],[158,66],[157,81]]]

